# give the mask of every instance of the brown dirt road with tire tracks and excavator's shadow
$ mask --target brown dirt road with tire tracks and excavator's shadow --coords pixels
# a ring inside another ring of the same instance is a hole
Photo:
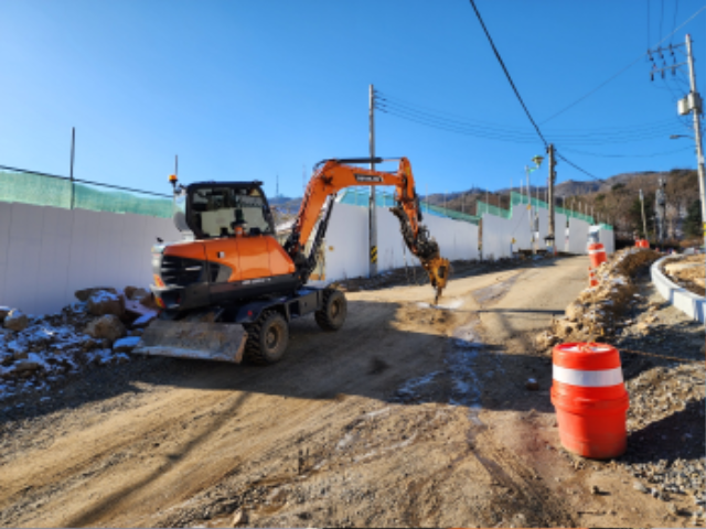
[[[442,307],[429,287],[349,293],[343,330],[296,322],[266,368],[139,358],[93,371],[2,423],[0,523],[659,523],[664,508],[624,471],[578,472],[559,450],[550,360],[530,337],[586,268],[457,278]]]

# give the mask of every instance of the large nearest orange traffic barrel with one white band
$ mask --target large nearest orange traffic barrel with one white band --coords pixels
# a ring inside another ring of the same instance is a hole
[[[560,344],[553,357],[552,403],[564,447],[597,460],[622,454],[630,399],[618,349],[607,344]]]

